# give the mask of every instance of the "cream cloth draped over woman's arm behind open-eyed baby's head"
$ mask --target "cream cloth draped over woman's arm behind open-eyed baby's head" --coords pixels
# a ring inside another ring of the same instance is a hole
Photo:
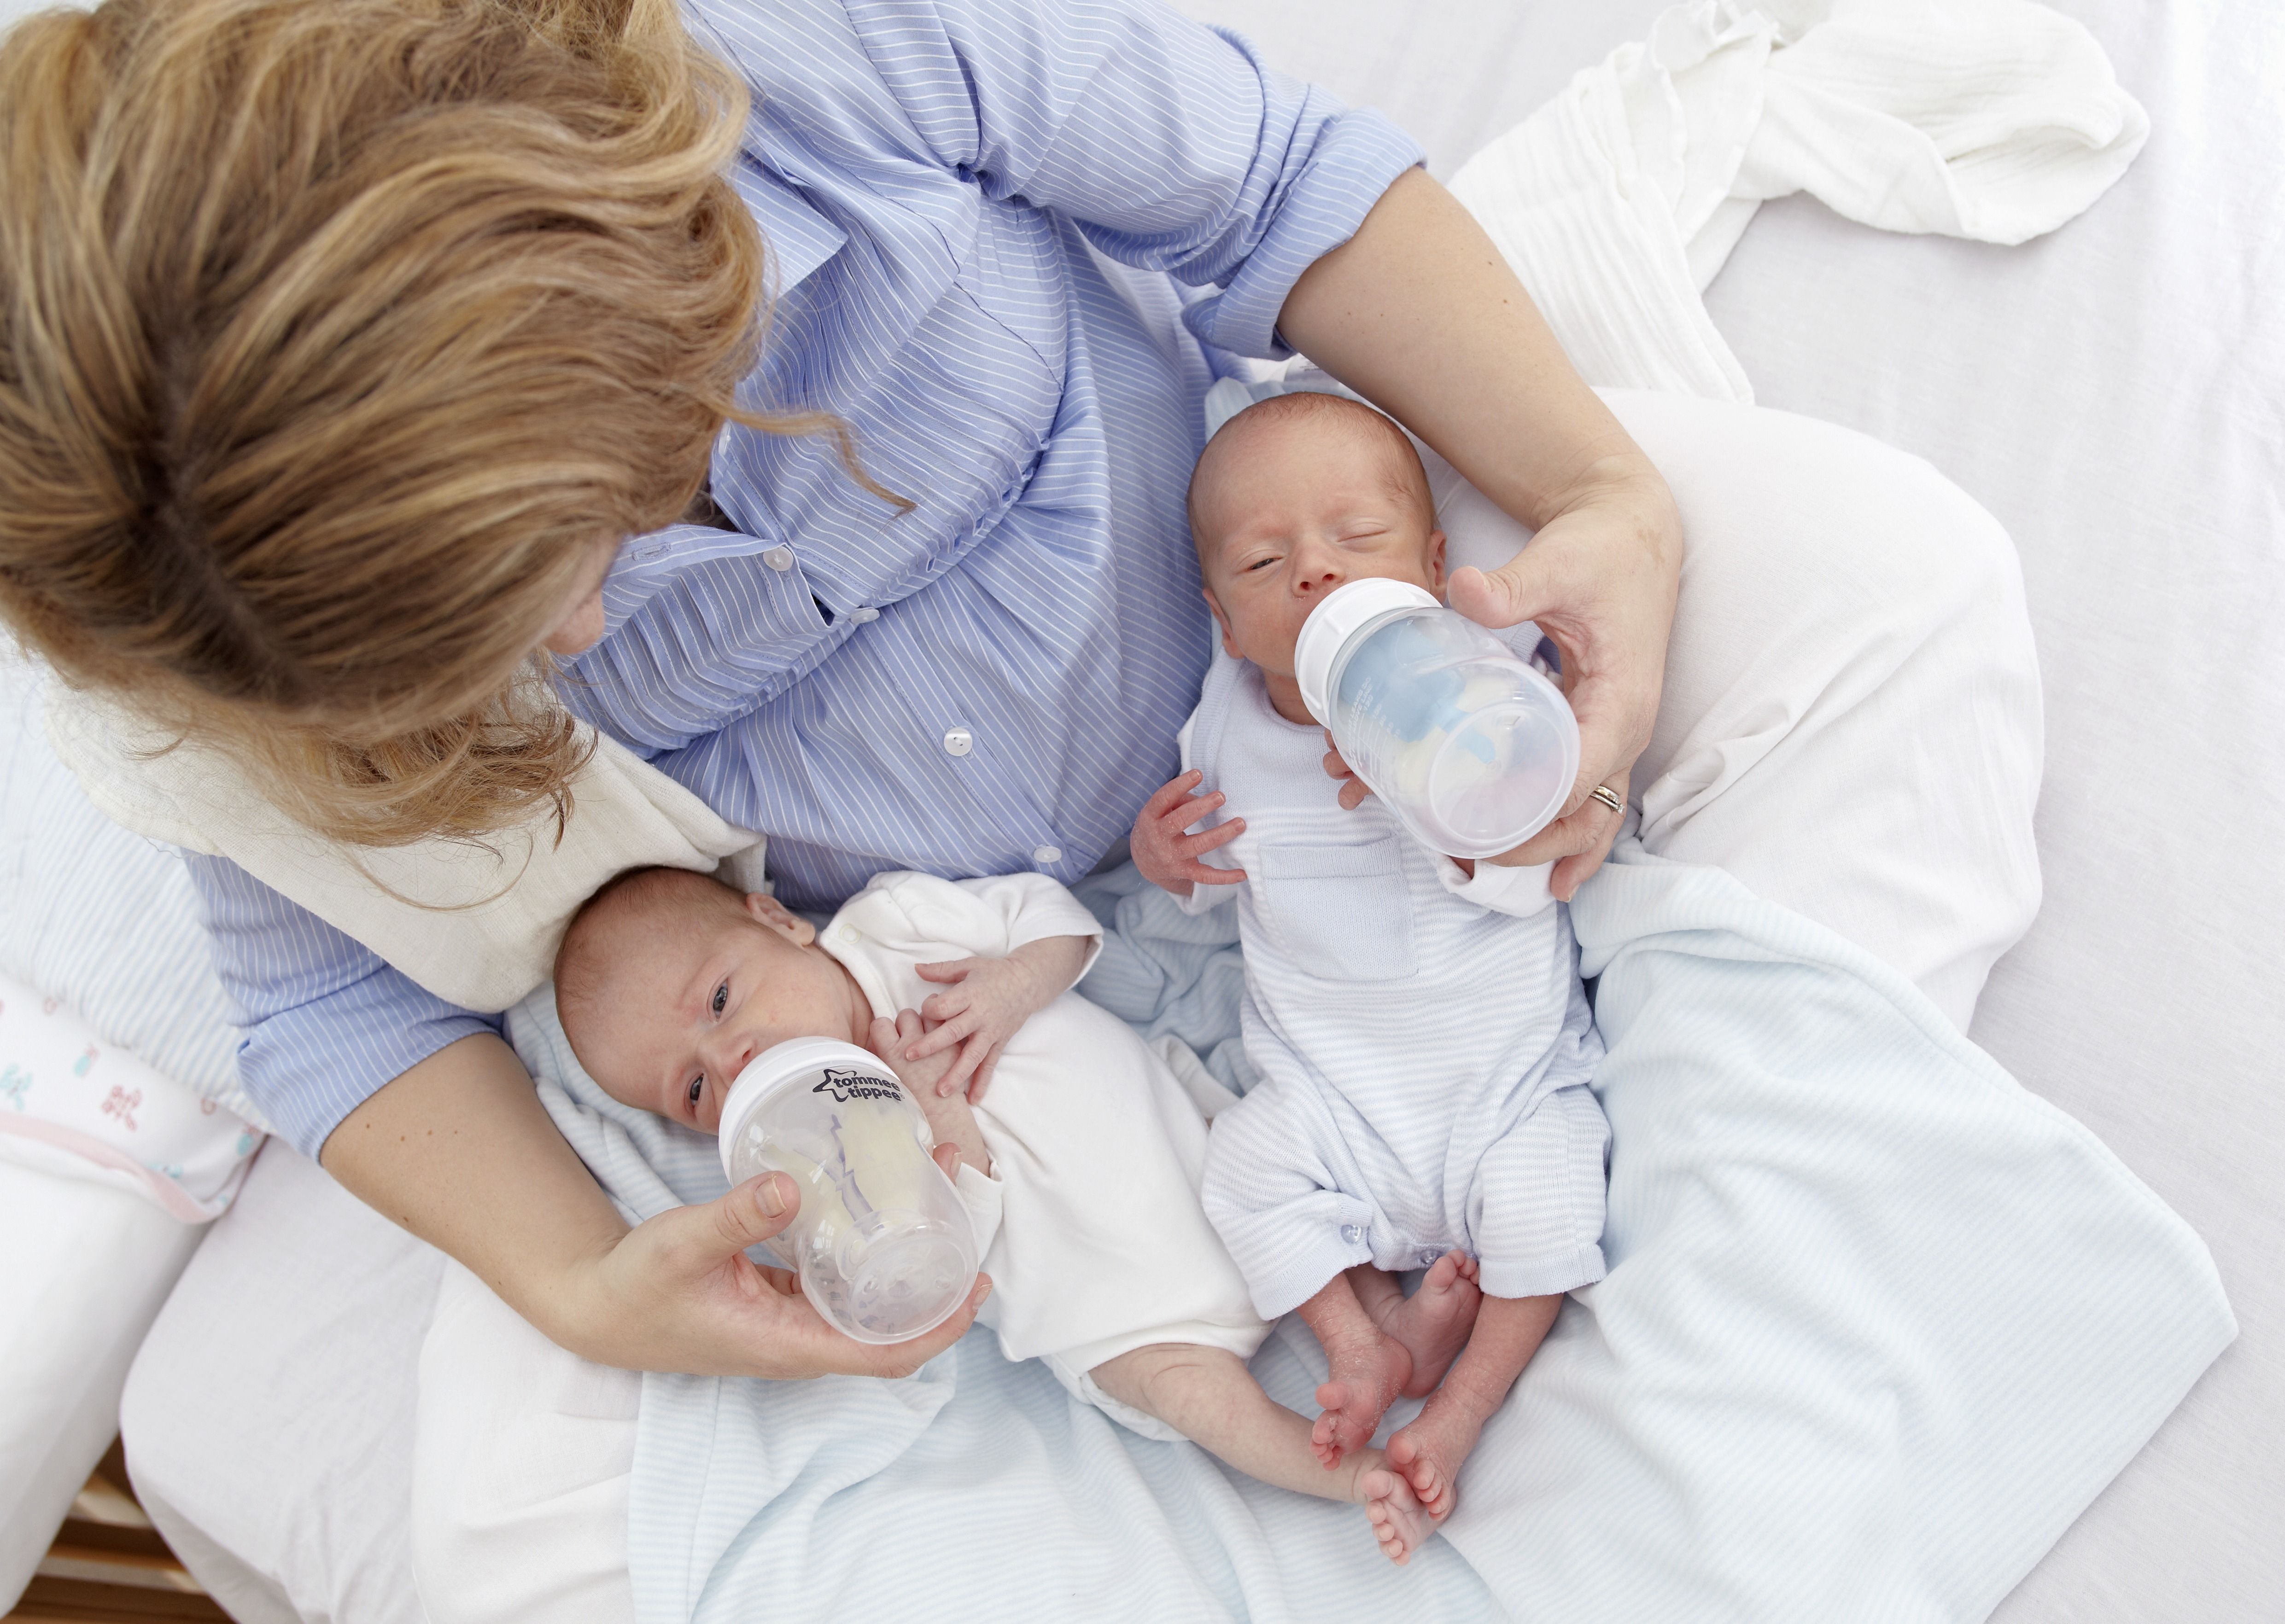
[[[560,834],[542,806],[484,841],[352,847],[297,825],[219,751],[169,740],[110,699],[57,685],[48,704],[55,754],[119,825],[228,857],[427,991],[487,1014],[548,978],[571,916],[612,875],[713,873],[733,852],[761,873],[759,836],[626,745],[580,733],[592,754],[571,777],[576,811]]]

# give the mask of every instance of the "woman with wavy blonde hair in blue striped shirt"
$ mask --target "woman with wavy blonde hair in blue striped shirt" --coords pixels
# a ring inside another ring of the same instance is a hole
[[[1657,708],[1673,503],[1403,135],[1147,0],[686,16],[110,0],[18,30],[11,628],[345,843],[576,815],[553,669],[768,831],[797,905],[882,868],[1076,879],[1204,665],[1204,368],[1293,345],[1540,528],[1456,598],[1563,644],[1586,767],[1520,859],[1565,857],[1563,895],[1593,870],[1618,818],[1588,790],[1625,795]],[[1197,343],[1120,267],[1211,288]],[[496,1021],[192,868],[249,1092],[560,1345],[903,1373],[967,1329],[859,1348],[761,1288],[775,1183],[628,1229]]]

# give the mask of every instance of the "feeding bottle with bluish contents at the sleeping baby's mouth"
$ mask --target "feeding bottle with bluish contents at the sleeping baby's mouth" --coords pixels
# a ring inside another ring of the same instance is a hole
[[[1353,580],[1302,621],[1293,676],[1341,756],[1430,850],[1497,857],[1579,777],[1563,690],[1405,580]]]

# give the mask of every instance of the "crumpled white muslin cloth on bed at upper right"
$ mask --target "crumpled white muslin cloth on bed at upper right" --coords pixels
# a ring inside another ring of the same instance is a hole
[[[1764,199],[2013,244],[2148,135],[2102,46],[2031,0],[1689,0],[1451,190],[1590,384],[1753,400],[1698,292]]]

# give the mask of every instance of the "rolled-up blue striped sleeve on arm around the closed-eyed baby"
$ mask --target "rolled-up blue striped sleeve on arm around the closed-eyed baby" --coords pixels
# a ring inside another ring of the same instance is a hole
[[[1200,340],[1282,359],[1277,313],[1421,148],[1152,0],[852,0],[939,162],[1079,222],[1111,258],[1220,292]]]

